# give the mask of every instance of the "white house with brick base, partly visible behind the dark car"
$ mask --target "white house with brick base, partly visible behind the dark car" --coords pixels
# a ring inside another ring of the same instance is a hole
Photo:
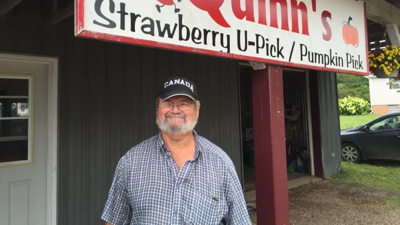
[[[368,76],[372,112],[385,114],[400,109],[400,81],[389,84],[389,78]],[[391,78],[392,79],[392,78]]]

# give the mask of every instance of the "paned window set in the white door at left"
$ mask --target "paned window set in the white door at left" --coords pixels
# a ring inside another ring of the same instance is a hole
[[[0,166],[32,161],[32,80],[0,74]]]

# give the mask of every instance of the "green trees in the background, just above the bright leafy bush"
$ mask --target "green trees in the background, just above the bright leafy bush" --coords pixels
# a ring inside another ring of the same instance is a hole
[[[337,97],[338,99],[347,96],[362,98],[370,102],[369,81],[361,75],[337,73]]]

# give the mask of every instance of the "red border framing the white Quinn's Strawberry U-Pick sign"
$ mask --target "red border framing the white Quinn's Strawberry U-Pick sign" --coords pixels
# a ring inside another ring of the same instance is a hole
[[[152,48],[160,48],[160,49],[167,49],[167,50],[177,50],[189,53],[196,53],[196,54],[203,54],[203,55],[211,55],[217,57],[225,57],[231,59],[238,59],[238,60],[247,60],[259,63],[266,63],[266,64],[273,64],[273,65],[282,65],[287,67],[295,67],[295,68],[306,68],[312,70],[323,70],[323,71],[330,71],[330,72],[339,72],[339,73],[350,73],[350,74],[357,74],[368,76],[369,74],[369,62],[366,62],[367,72],[358,72],[353,70],[345,70],[345,69],[334,69],[334,68],[327,68],[327,67],[319,67],[319,66],[310,66],[305,64],[297,64],[297,63],[289,63],[283,62],[273,59],[266,59],[266,58],[259,58],[253,56],[246,56],[246,55],[238,55],[233,53],[227,52],[219,52],[219,51],[212,51],[207,49],[199,49],[199,48],[192,48],[180,45],[173,45],[173,44],[166,44],[161,42],[155,42],[153,40],[144,40],[138,39],[133,37],[126,37],[126,36],[119,36],[113,34],[106,34],[94,31],[85,30],[84,24],[84,12],[85,12],[85,0],[76,0],[75,3],[75,36],[77,37],[86,37],[91,39],[100,39],[106,40],[116,43],[123,43],[123,44],[134,44],[139,46],[146,46]],[[365,45],[366,45],[366,58],[368,59],[368,31],[367,31],[367,7],[366,3],[364,3],[364,23],[365,23]]]

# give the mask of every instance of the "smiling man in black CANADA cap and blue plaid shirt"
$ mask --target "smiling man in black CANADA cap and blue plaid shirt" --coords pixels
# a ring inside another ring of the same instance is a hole
[[[196,85],[167,79],[156,101],[161,132],[118,162],[102,219],[107,224],[251,224],[231,159],[193,130]]]

